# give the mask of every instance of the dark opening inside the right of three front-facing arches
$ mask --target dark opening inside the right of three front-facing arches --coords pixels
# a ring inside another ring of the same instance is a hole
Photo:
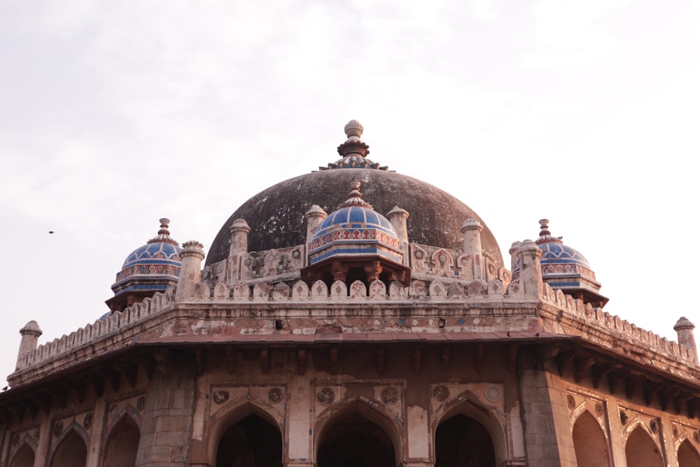
[[[442,421],[435,431],[435,467],[496,467],[486,428],[465,414]]]

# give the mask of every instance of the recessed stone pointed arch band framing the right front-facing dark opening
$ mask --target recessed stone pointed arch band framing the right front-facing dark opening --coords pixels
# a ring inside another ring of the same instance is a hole
[[[508,459],[505,420],[499,420],[493,413],[493,409],[482,405],[470,391],[464,391],[456,395],[435,411],[432,426],[433,440],[435,440],[435,436],[437,435],[437,428],[443,422],[449,421],[449,419],[458,414],[462,414],[468,419],[476,421],[484,428],[493,445],[493,456],[496,461],[496,466],[505,465]],[[433,442],[433,449],[435,449],[435,442]],[[433,451],[433,455],[434,454],[435,452]]]

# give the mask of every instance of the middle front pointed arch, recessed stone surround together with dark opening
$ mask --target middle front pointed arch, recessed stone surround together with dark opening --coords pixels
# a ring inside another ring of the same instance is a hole
[[[342,465],[359,461],[360,465],[393,466],[402,461],[402,429],[397,421],[377,405],[355,399],[328,407],[316,418],[314,454],[316,465],[335,464],[332,458],[342,457]],[[349,447],[359,447],[348,452]],[[369,458],[372,459],[369,459]],[[374,463],[373,463],[374,462]]]

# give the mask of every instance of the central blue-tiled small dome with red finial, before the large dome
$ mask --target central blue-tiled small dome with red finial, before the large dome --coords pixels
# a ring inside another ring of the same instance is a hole
[[[393,226],[362,199],[359,188],[360,183],[353,182],[349,199],[318,226],[309,245],[309,264],[353,256],[380,256],[401,263],[401,242]]]

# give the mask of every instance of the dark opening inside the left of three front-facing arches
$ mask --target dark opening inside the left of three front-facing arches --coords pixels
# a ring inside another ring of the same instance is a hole
[[[216,467],[281,467],[282,435],[256,414],[232,425],[221,436]]]

